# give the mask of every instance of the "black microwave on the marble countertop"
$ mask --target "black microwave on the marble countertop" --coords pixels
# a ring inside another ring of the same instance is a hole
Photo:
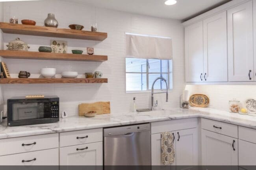
[[[40,99],[15,97],[7,100],[7,126],[44,124],[59,121],[59,97]]]

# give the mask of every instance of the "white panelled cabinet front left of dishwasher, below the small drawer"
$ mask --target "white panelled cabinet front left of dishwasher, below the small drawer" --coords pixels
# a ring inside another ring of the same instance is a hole
[[[61,169],[67,168],[66,165],[103,165],[103,143],[89,143],[60,148],[59,163],[61,165]]]

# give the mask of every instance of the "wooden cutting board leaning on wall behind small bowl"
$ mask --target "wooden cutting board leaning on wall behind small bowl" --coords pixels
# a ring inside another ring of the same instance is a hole
[[[84,112],[96,111],[97,115],[110,113],[110,102],[95,102],[79,104],[79,116],[83,116]]]

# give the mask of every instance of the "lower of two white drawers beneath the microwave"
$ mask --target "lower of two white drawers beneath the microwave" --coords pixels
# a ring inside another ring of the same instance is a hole
[[[59,149],[0,156],[0,165],[59,165]]]

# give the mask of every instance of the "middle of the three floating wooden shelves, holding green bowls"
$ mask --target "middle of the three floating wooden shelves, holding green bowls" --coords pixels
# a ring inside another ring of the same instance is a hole
[[[0,50],[0,56],[3,58],[16,59],[36,59],[36,60],[67,60],[67,61],[94,61],[103,62],[108,60],[106,55],[85,55],[85,54],[62,54],[62,53],[44,53],[32,51],[11,51]]]

